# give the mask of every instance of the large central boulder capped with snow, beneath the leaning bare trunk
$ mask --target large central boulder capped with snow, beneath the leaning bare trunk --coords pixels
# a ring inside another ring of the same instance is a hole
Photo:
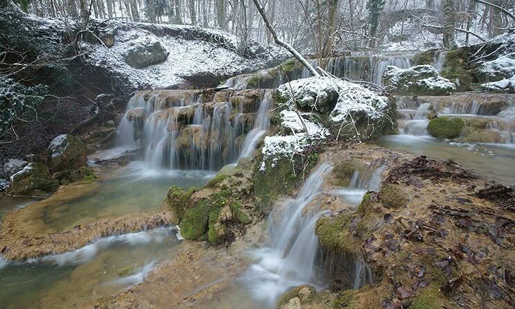
[[[313,76],[281,85],[274,94],[279,109],[279,130],[266,136],[262,154],[268,159],[292,157],[331,133],[340,139],[367,139],[396,127],[389,100],[365,87],[331,78]],[[391,119],[391,120],[389,120]],[[390,127],[388,127],[390,123]]]

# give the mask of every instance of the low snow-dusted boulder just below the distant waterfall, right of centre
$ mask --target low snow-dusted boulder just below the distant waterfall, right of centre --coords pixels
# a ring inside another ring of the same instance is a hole
[[[383,85],[393,94],[406,96],[445,96],[456,91],[456,85],[439,76],[434,67],[424,64],[409,69],[388,66]]]

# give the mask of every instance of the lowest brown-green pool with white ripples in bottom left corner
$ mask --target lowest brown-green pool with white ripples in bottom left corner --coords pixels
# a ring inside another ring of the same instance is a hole
[[[76,251],[23,263],[0,259],[1,308],[76,308],[143,281],[173,256],[175,228],[101,238]]]

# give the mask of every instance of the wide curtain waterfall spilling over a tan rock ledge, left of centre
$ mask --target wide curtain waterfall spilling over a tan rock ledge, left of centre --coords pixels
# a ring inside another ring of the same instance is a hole
[[[252,153],[270,125],[270,100],[258,89],[141,91],[119,125],[119,145],[139,143],[151,168],[218,170]]]

